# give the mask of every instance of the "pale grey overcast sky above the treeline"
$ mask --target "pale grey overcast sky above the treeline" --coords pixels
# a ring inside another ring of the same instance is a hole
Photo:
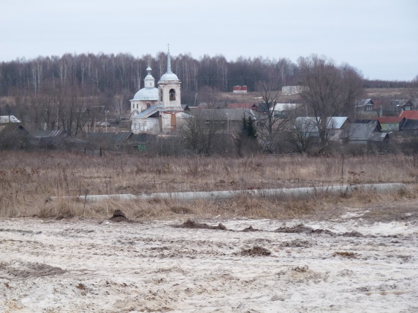
[[[64,53],[312,53],[364,78],[418,75],[417,0],[3,0],[0,61]]]

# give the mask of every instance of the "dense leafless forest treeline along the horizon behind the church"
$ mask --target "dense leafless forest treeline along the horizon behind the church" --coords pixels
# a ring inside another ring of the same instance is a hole
[[[44,93],[51,88],[82,89],[84,95],[113,96],[134,94],[143,87],[148,62],[152,75],[158,79],[165,73],[167,54],[155,57],[145,54],[134,57],[128,53],[64,54],[39,56],[35,59],[16,59],[0,64],[0,96]],[[277,88],[298,84],[299,69],[290,59],[239,57],[227,61],[224,56],[205,55],[195,59],[189,54],[171,57],[172,70],[181,80],[185,91],[195,92],[205,86],[216,91],[232,91],[235,85],[246,85],[256,91],[258,81],[268,81]],[[410,81],[365,80],[366,88],[410,87]]]

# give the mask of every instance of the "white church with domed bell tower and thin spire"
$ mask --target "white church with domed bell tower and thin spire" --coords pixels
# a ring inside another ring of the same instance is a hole
[[[147,72],[144,88],[130,100],[131,130],[133,133],[167,133],[176,130],[188,115],[181,108],[180,80],[171,71],[170,49],[167,53],[167,72],[158,81],[158,88],[155,88],[149,64]]]

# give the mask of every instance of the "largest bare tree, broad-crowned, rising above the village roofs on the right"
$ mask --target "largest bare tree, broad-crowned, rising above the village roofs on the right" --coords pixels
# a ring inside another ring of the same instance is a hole
[[[348,64],[334,63],[317,55],[301,57],[300,96],[311,107],[321,143],[327,142],[327,117],[347,116],[363,94],[363,78]]]

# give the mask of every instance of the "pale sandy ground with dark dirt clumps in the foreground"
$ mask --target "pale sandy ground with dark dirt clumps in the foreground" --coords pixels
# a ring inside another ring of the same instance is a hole
[[[363,213],[194,219],[226,231],[3,219],[0,312],[418,312],[416,216]]]

